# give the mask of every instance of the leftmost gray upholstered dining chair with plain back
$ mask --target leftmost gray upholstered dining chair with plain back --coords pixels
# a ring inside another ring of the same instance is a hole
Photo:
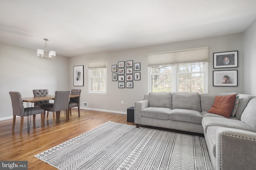
[[[23,106],[23,101],[20,92],[9,92],[12,100],[12,131],[16,122],[16,116],[20,116],[20,133],[22,133],[24,116],[28,116],[28,112],[33,115],[33,124],[36,124],[36,114],[41,114],[41,126],[44,124],[44,110],[37,107],[26,107]]]

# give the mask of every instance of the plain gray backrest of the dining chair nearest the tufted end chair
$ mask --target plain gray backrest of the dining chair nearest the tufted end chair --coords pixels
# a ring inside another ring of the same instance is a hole
[[[68,99],[69,99],[70,91],[56,91],[54,97],[53,110],[61,111],[68,109]]]

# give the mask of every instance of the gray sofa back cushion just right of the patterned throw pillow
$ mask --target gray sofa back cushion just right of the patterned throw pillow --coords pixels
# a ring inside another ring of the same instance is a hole
[[[241,115],[245,109],[245,107],[247,106],[247,104],[250,102],[250,100],[252,100],[252,98],[254,98],[255,96],[250,96],[248,94],[238,94],[239,96],[239,103],[236,109],[236,118],[238,120],[241,120]]]

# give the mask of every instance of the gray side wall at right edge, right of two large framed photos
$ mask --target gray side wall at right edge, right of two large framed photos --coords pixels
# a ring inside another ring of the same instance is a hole
[[[256,20],[244,31],[244,93],[256,96]]]

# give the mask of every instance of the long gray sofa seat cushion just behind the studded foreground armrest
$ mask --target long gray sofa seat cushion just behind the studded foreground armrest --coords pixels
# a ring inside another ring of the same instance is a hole
[[[210,126],[229,127],[234,129],[255,132],[255,130],[252,129],[252,127],[250,127],[249,125],[240,120],[227,119],[221,117],[204,117],[202,119],[202,126],[204,128],[205,133],[207,131],[207,128]]]

